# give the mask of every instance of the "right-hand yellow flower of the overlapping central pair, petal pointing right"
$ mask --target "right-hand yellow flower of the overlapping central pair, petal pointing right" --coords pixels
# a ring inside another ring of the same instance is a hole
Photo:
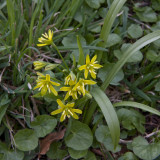
[[[73,88],[73,90],[77,90],[78,93],[81,95],[81,93],[83,94],[83,96],[85,96],[85,94],[88,92],[85,89],[85,85],[89,84],[89,85],[94,85],[97,82],[95,81],[91,81],[91,80],[84,80],[84,79],[80,79],[79,82],[75,85],[75,87]]]

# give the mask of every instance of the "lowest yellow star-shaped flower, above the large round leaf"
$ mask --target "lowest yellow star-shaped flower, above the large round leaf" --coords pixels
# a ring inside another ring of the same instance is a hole
[[[60,99],[57,99],[57,103],[60,106],[59,109],[51,112],[51,115],[59,114],[62,112],[60,121],[64,121],[66,116],[70,118],[72,116],[75,119],[79,119],[76,113],[82,114],[82,111],[80,109],[73,109],[74,107],[74,102],[73,103],[67,103],[64,105]]]

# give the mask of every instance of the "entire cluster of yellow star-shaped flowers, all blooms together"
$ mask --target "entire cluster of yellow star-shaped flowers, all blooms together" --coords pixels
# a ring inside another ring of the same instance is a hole
[[[38,41],[41,44],[37,44],[37,46],[46,46],[46,45],[52,45],[53,44],[53,31],[48,30],[48,34],[42,34],[42,37],[38,39]],[[58,51],[59,53],[59,51]],[[72,97],[74,100],[78,99],[78,95],[85,96],[87,93],[89,93],[88,90],[86,90],[86,85],[95,85],[96,82],[92,80],[87,80],[89,73],[91,74],[91,77],[93,79],[96,79],[96,69],[101,68],[102,66],[97,64],[97,55],[95,55],[91,60],[89,55],[86,56],[86,64],[80,66],[78,69],[84,70],[84,78],[79,78],[79,74],[74,75],[74,73],[71,71],[70,74],[65,78],[65,82],[63,87],[60,88],[60,91],[67,92],[64,101],[70,100],[69,97]],[[35,70],[42,69],[43,67],[46,67],[47,63],[43,61],[35,61],[34,63]],[[54,82],[51,80],[51,77],[49,74],[42,74],[40,72],[37,72],[38,79],[37,79],[37,85],[34,87],[35,89],[39,89],[41,91],[41,95],[44,96],[47,92],[53,93],[55,96],[58,95],[56,89],[53,86],[60,86],[60,83]],[[60,121],[64,121],[66,117],[70,118],[72,116],[75,119],[78,119],[78,114],[82,114],[82,111],[80,109],[75,109],[74,102],[68,102],[66,105],[60,100],[57,99],[57,103],[59,108],[53,112],[51,112],[51,115],[55,114],[61,114]]]

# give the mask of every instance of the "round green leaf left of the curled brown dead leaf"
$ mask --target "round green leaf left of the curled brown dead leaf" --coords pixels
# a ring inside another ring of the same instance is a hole
[[[31,129],[19,130],[14,136],[16,147],[21,151],[31,151],[38,146],[38,138]]]

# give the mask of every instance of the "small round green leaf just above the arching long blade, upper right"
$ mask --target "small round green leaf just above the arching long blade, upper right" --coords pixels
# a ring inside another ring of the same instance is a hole
[[[143,35],[143,30],[138,24],[131,24],[127,32],[132,38],[139,38]]]

